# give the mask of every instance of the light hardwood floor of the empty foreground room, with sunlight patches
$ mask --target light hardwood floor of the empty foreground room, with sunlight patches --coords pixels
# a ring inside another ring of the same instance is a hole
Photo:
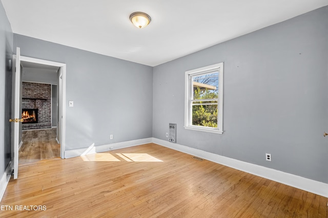
[[[327,200],[150,143],[22,164],[0,216],[327,217]]]

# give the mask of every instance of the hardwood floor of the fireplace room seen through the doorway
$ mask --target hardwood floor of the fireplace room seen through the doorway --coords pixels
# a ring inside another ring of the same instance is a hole
[[[56,129],[24,131],[19,150],[19,164],[60,157]]]

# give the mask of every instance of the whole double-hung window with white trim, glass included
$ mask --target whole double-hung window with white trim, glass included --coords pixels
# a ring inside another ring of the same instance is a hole
[[[186,71],[185,129],[223,133],[223,62]]]

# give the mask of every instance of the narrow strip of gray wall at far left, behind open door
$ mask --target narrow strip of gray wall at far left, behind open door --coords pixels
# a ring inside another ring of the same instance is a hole
[[[13,33],[6,12],[0,2],[0,177],[11,159],[11,70]]]

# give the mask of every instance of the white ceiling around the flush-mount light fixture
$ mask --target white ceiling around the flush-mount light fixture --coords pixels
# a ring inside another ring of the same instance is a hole
[[[156,66],[328,5],[328,0],[2,0],[12,31]],[[129,15],[152,21],[144,29]]]

